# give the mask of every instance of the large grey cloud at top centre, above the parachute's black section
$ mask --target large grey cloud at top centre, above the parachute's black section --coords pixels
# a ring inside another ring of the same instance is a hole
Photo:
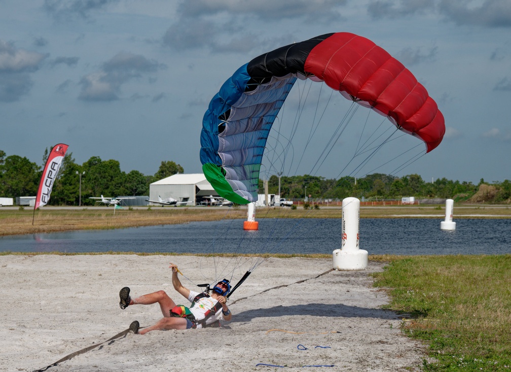
[[[206,48],[212,52],[245,53],[263,44],[257,35],[245,32],[245,23],[257,20],[261,27],[282,19],[315,24],[338,22],[346,0],[196,0],[182,2],[179,20],[164,35],[164,45],[175,50]],[[236,16],[233,17],[233,14]],[[311,35],[316,36],[316,35]],[[275,35],[280,38],[282,35]],[[264,40],[268,45],[269,40]],[[271,41],[271,40],[270,40]],[[292,40],[301,41],[301,40]],[[285,44],[277,44],[281,46]]]

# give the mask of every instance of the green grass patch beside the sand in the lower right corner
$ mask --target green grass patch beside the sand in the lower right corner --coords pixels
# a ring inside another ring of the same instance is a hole
[[[511,371],[511,255],[394,256],[374,277],[425,371]]]

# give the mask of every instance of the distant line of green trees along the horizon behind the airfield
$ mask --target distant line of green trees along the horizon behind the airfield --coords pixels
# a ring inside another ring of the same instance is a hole
[[[50,148],[51,151],[51,148]],[[26,157],[6,156],[0,150],[0,196],[35,196],[42,174],[42,168],[48,158],[46,149],[42,165],[31,162]],[[128,173],[121,171],[117,160],[101,160],[91,157],[85,163],[76,164],[73,153],[64,157],[58,178],[54,182],[50,205],[78,205],[81,174],[81,202],[93,205],[91,196],[137,196],[149,195],[149,185],[155,181],[184,173],[184,168],[173,161],[162,161],[154,175],[146,176],[140,171]],[[268,180],[268,192],[278,193],[278,177]],[[403,196],[415,199],[446,199],[458,202],[511,203],[511,182],[479,184],[437,179],[425,182],[419,174],[394,177],[382,173],[369,174],[362,178],[343,177],[338,180],[318,176],[283,176],[280,180],[281,196],[287,199],[303,200],[305,196],[317,201],[342,200],[355,196],[365,200],[396,200]],[[259,193],[264,193],[263,180],[259,181]]]

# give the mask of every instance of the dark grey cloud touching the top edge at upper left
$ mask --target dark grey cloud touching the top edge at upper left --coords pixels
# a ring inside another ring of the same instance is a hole
[[[90,13],[102,10],[120,0],[44,0],[43,8],[56,19],[69,19],[78,16],[87,19]]]

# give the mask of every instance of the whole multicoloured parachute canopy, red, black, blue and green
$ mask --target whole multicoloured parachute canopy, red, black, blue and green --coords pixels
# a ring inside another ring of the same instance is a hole
[[[204,176],[223,198],[257,201],[266,141],[297,78],[324,81],[386,116],[422,139],[426,152],[444,137],[442,113],[401,62],[355,34],[317,36],[252,59],[211,100],[202,122],[200,160]]]

